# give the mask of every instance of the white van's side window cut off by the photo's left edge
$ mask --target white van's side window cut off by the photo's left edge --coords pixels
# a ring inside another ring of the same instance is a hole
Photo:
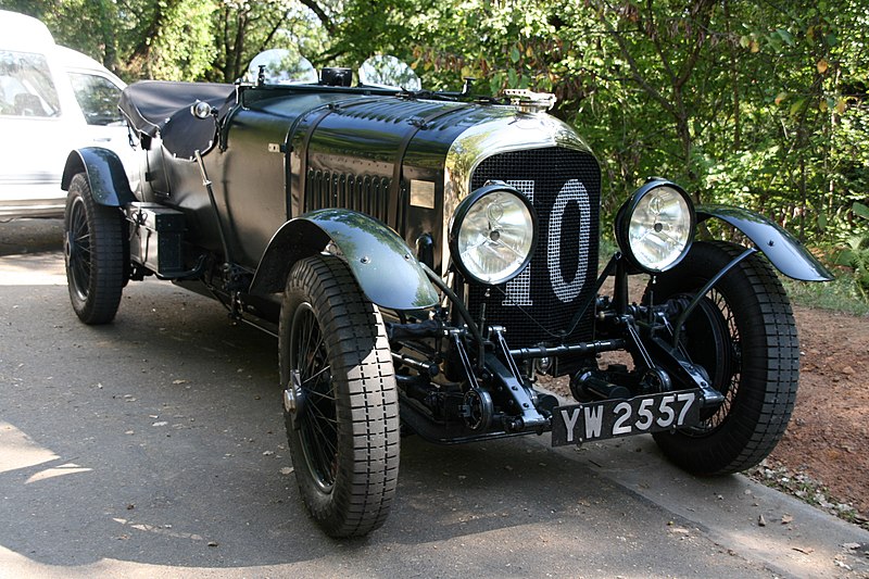
[[[56,116],[59,112],[46,55],[0,50],[0,114]]]

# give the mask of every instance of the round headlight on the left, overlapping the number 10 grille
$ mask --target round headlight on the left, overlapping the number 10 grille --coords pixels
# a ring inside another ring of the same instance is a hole
[[[456,207],[450,251],[471,281],[496,286],[516,277],[537,244],[537,214],[530,201],[503,182],[487,184]]]

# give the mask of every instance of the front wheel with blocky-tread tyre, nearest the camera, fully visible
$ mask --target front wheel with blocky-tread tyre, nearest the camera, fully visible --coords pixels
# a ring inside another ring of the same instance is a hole
[[[389,515],[399,475],[399,403],[380,312],[338,257],[290,272],[279,327],[287,439],[299,491],[331,537]]]

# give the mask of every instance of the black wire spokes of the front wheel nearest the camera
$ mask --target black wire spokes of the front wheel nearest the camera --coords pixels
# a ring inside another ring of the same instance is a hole
[[[338,417],[335,386],[324,336],[310,303],[292,320],[290,368],[298,404],[299,430],[305,464],[317,486],[329,492],[338,470]]]

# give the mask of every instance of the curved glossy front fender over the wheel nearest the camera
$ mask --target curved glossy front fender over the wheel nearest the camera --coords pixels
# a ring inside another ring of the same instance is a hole
[[[268,242],[250,293],[284,291],[292,265],[331,242],[365,295],[390,310],[421,310],[438,293],[411,249],[382,223],[355,211],[326,209],[284,224]]]

